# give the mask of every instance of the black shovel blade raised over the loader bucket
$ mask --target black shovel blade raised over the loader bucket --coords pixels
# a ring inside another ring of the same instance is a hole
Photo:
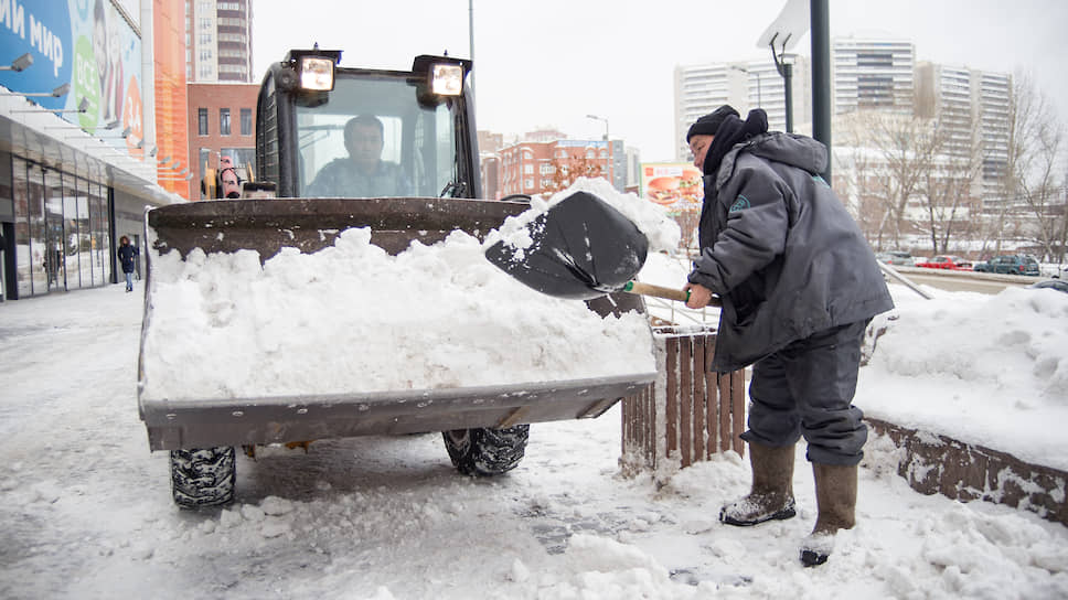
[[[535,290],[557,298],[590,300],[622,289],[638,275],[649,240],[637,225],[604,200],[575,192],[526,225],[534,240],[516,248],[504,240],[485,257]]]

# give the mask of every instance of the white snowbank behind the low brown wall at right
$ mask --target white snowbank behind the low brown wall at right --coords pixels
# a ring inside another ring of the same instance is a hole
[[[1068,469],[1068,294],[895,293],[861,369],[865,415]]]

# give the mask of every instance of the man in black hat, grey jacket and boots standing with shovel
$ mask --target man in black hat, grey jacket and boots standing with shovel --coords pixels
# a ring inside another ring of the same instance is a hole
[[[876,258],[842,201],[820,176],[826,147],[768,132],[724,105],[686,136],[704,172],[701,256],[685,289],[690,308],[719,297],[712,368],[752,365],[748,430],[752,488],[719,518],[756,525],[794,516],[794,447],[801,436],[819,514],[801,545],[805,566],[826,561],[834,534],[855,524],[857,464],[867,440],[853,406],[867,323],[894,307]]]

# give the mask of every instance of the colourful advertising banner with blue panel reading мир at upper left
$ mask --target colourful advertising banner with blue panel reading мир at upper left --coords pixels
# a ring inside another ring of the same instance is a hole
[[[0,0],[0,63],[30,53],[21,72],[0,71],[0,85],[32,97],[44,108],[85,113],[60,116],[89,132],[130,129],[127,144],[142,136],[141,40],[110,0]]]

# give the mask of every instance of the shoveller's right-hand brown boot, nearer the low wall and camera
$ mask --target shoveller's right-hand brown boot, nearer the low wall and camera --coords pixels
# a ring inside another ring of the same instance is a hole
[[[856,465],[812,463],[819,514],[812,533],[801,543],[801,562],[815,567],[827,561],[839,529],[856,525]]]

